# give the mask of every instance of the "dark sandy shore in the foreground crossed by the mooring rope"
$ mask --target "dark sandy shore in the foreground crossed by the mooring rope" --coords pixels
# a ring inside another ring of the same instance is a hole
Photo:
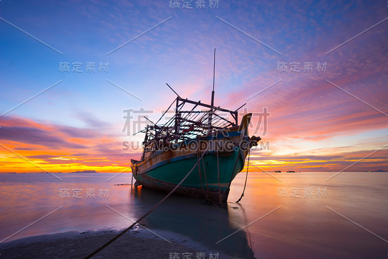
[[[115,237],[122,230],[97,230],[97,231],[68,231],[54,234],[45,234],[16,239],[0,243],[1,258],[84,258]],[[195,242],[189,237],[164,230],[152,230],[162,238],[149,232],[142,226],[135,226],[113,243],[98,252],[92,258],[170,258],[170,253],[178,253],[183,258],[183,253],[192,253],[191,258],[196,258],[196,253],[205,253],[205,259],[210,253],[218,258],[235,259],[221,253],[219,250],[210,249],[200,242]],[[169,242],[167,242],[168,240]],[[188,257],[190,258],[190,257]]]

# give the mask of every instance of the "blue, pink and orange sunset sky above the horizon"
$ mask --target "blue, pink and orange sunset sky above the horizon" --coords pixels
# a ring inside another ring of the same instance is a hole
[[[387,1],[200,4],[2,0],[0,173],[130,171],[166,83],[210,104],[214,49],[215,105],[262,138],[249,170],[388,171]]]

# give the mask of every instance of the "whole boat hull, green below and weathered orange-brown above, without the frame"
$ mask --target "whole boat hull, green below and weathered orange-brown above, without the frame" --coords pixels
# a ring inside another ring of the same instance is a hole
[[[143,161],[132,160],[136,184],[170,192],[193,169],[174,193],[226,203],[230,183],[242,171],[248,154],[249,121],[250,116],[243,125],[228,128],[217,136],[182,141],[164,147]],[[202,159],[195,165],[203,152]]]

